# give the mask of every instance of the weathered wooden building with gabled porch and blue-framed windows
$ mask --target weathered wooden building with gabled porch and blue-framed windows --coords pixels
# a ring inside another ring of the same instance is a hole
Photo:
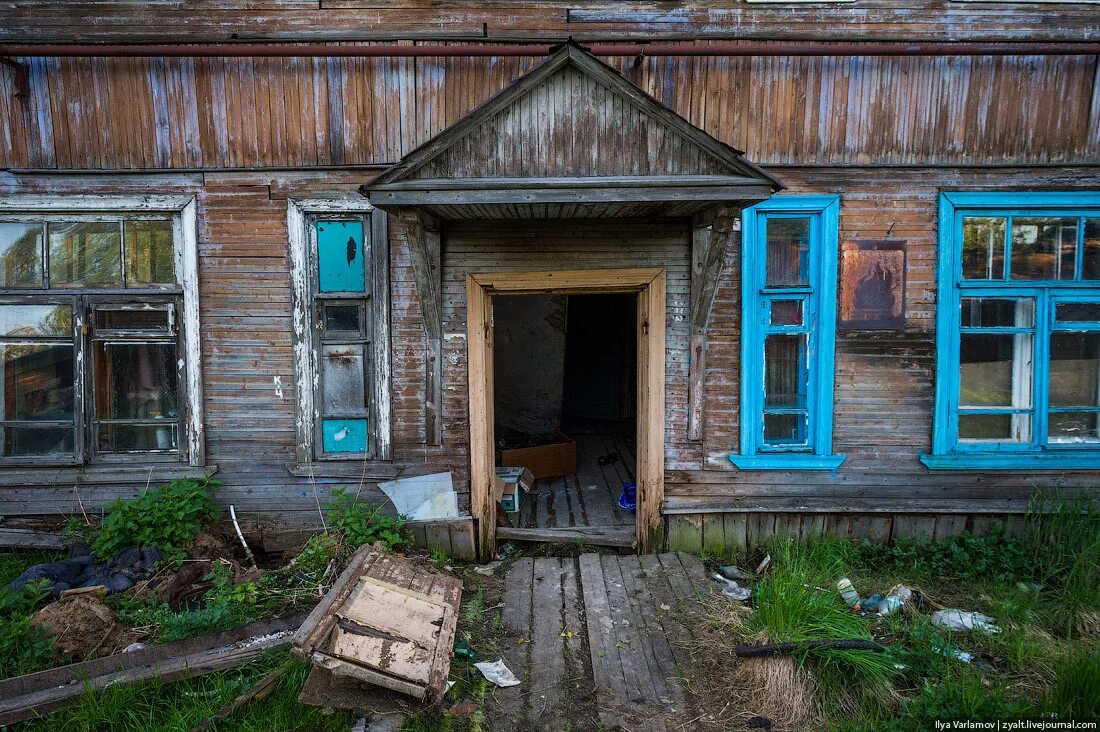
[[[7,525],[450,472],[458,555],[717,550],[1100,480],[1094,3],[0,8]]]

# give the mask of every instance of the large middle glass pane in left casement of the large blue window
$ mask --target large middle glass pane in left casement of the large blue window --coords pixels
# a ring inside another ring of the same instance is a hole
[[[1031,407],[1031,334],[963,334],[961,406]]]

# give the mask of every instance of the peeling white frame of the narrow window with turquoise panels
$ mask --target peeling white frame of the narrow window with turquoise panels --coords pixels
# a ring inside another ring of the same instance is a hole
[[[320,379],[320,354],[314,348],[314,292],[312,292],[312,252],[314,237],[310,226],[318,216],[340,215],[362,216],[369,218],[364,236],[371,238],[371,307],[373,309],[372,336],[372,372],[371,401],[372,412],[376,415],[372,430],[373,449],[367,458],[362,455],[348,457],[328,456],[323,459],[317,454],[316,425],[320,413],[316,404],[315,392]],[[290,245],[290,283],[294,301],[294,365],[295,383],[297,384],[297,466],[292,472],[297,473],[301,466],[308,467],[312,474],[315,466],[348,463],[348,462],[387,462],[393,459],[392,437],[392,397],[391,397],[391,359],[389,359],[389,245],[386,237],[386,217],[375,209],[370,201],[356,197],[346,198],[292,198],[287,200],[287,233]],[[323,471],[321,471],[323,472]],[[319,473],[320,474],[320,473]]]

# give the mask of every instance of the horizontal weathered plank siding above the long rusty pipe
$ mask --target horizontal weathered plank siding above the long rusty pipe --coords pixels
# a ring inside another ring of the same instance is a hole
[[[1096,39],[1094,8],[956,0],[750,4],[743,0],[4,0],[0,37],[38,42],[654,36]]]

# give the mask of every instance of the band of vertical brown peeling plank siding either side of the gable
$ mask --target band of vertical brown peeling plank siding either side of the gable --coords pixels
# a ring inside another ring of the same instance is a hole
[[[25,101],[0,70],[0,167],[382,166],[538,61],[29,59]],[[761,165],[1100,160],[1096,56],[607,61]]]

